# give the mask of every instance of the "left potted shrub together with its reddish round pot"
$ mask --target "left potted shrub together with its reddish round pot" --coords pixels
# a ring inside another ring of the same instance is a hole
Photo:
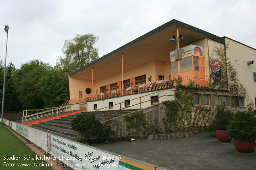
[[[227,125],[233,118],[233,113],[225,106],[218,106],[216,108],[216,114],[211,122],[209,129],[211,132],[215,132],[216,138],[219,142],[230,142],[232,138],[227,135]]]

